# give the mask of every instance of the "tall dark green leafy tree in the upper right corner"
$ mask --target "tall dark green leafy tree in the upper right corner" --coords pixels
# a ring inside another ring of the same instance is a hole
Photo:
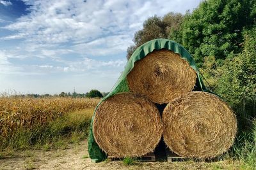
[[[225,60],[241,52],[242,32],[255,23],[255,8],[255,0],[203,1],[193,13],[187,13],[175,40],[193,55],[198,66],[205,56]]]

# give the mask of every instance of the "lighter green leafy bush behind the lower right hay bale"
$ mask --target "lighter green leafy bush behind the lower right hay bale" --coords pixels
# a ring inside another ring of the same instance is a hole
[[[242,52],[222,64],[209,57],[202,73],[214,91],[237,113],[239,131],[252,127],[256,116],[256,29],[244,32]]]

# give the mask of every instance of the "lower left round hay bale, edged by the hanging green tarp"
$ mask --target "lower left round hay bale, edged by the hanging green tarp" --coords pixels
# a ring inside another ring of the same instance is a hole
[[[93,122],[95,141],[112,157],[140,157],[156,148],[163,123],[156,106],[129,92],[102,102]]]

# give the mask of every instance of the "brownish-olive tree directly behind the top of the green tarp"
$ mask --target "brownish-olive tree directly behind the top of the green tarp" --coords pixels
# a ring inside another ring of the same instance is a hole
[[[138,46],[156,38],[168,38],[170,32],[179,30],[183,16],[180,13],[168,13],[164,17],[148,18],[143,23],[143,29],[135,32],[134,45],[127,48],[127,59],[129,59]]]

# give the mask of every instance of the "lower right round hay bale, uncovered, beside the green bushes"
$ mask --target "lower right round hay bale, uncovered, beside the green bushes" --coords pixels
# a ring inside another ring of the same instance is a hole
[[[234,143],[237,120],[218,96],[189,92],[163,112],[164,141],[182,157],[206,159],[226,152]]]

